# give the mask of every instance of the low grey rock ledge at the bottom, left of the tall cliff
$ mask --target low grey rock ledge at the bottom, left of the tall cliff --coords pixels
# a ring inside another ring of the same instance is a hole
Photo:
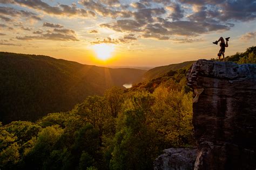
[[[197,150],[189,148],[169,148],[164,150],[154,162],[154,170],[190,170],[194,169]]]

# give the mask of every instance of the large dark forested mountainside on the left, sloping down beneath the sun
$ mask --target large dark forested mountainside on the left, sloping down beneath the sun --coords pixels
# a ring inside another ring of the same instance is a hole
[[[35,121],[88,95],[140,79],[145,70],[105,68],[43,55],[0,52],[0,122]]]

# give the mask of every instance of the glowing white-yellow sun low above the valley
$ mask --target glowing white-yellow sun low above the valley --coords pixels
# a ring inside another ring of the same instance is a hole
[[[114,45],[112,44],[96,44],[92,48],[97,54],[97,58],[104,61],[109,59],[114,51]]]

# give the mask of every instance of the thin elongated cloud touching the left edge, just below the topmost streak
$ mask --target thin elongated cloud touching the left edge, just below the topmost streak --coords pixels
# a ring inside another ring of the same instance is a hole
[[[1,0],[0,0],[1,2]],[[0,13],[11,17],[24,17],[26,19],[42,20],[36,13],[0,6]]]

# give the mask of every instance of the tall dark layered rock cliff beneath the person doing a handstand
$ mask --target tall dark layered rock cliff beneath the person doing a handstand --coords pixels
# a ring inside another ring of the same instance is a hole
[[[194,169],[256,169],[256,65],[198,60],[187,80],[196,95]]]

